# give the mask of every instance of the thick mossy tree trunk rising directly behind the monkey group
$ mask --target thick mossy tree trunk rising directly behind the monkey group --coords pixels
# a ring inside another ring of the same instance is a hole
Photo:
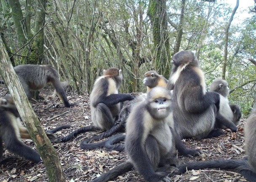
[[[167,30],[166,0],[149,0],[147,14],[152,23],[155,69],[165,78],[169,78],[170,43]]]

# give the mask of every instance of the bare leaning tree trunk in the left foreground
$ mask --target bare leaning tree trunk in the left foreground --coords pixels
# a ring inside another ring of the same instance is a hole
[[[29,135],[31,136],[40,156],[45,164],[49,182],[65,182],[65,175],[61,164],[50,140],[45,134],[40,121],[33,111],[27,96],[25,95],[19,79],[13,70],[10,59],[0,38],[0,73],[5,80],[11,96],[17,106],[22,120],[25,122]],[[22,103],[21,103],[22,101]]]

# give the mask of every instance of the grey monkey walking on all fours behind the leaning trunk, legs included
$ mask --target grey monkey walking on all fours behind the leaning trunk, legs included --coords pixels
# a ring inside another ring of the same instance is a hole
[[[69,104],[57,71],[52,65],[18,65],[14,67],[14,70],[29,100],[31,99],[30,90],[37,91],[51,83],[65,107],[72,107],[74,105]]]

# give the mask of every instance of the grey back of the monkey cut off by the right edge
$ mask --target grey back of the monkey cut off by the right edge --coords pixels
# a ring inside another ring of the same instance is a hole
[[[256,105],[245,125],[245,151],[248,155],[248,162],[256,172]]]

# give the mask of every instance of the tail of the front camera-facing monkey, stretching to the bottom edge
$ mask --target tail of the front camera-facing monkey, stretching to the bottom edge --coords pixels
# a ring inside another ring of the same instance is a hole
[[[125,161],[122,164],[119,164],[118,166],[115,166],[113,169],[109,170],[108,172],[101,174],[100,177],[97,177],[96,179],[91,180],[91,182],[107,182],[113,178],[116,178],[117,176],[120,176],[124,174],[125,172],[131,171],[133,168],[133,165],[130,161]]]

